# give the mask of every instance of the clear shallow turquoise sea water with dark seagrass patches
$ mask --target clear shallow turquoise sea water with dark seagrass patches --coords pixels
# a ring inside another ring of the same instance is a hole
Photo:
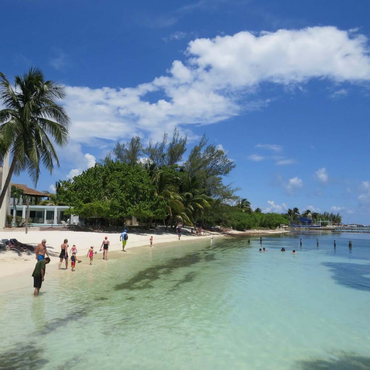
[[[370,369],[370,235],[247,240],[110,252],[36,298],[30,277],[1,296],[0,369]]]

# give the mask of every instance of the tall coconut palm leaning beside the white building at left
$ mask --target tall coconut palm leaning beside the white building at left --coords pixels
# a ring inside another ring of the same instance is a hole
[[[13,172],[27,170],[34,184],[40,175],[40,165],[50,174],[54,163],[59,167],[53,141],[59,147],[68,143],[70,118],[55,100],[63,99],[63,86],[45,81],[38,68],[31,67],[22,77],[16,76],[15,90],[0,72],[0,99],[5,109],[0,111],[0,160],[9,152],[11,165],[0,195],[0,207]]]

